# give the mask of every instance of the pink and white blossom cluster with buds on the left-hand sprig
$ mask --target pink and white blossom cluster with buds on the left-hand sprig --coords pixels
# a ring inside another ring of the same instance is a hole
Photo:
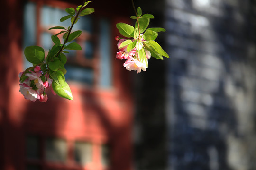
[[[33,102],[35,102],[37,99],[40,102],[46,102],[48,97],[45,93],[45,89],[51,86],[53,80],[48,76],[43,75],[40,66],[36,66],[34,71],[30,70],[27,73],[19,73],[19,78],[22,76],[22,74],[25,74],[26,79],[20,82],[19,92],[24,95],[24,98]]]

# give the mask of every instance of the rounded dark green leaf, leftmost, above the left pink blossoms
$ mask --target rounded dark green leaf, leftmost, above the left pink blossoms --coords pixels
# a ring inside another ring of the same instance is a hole
[[[24,50],[27,61],[33,64],[40,64],[45,59],[45,51],[38,46],[28,46]]]

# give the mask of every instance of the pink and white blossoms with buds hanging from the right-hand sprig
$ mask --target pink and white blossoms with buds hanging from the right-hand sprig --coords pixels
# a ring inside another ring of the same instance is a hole
[[[141,36],[142,37],[142,34]],[[125,63],[123,64],[123,66],[131,71],[131,70],[137,70],[137,73],[140,73],[141,70],[143,71],[146,71],[146,68],[147,68],[147,61],[146,62],[141,62],[140,61],[140,57],[139,57],[139,53],[138,51],[141,50],[143,47],[142,46],[139,46],[139,45],[136,45],[133,49],[127,51],[127,47],[128,45],[125,45],[125,46],[121,46],[121,44],[123,42],[125,42],[126,40],[125,39],[120,39],[119,37],[116,37],[116,40],[119,40],[117,46],[118,46],[118,49],[120,50],[119,52],[117,52],[117,59],[127,59],[125,61]],[[141,38],[141,41],[143,41],[144,39]],[[132,42],[134,41],[137,41],[137,40],[132,40]],[[137,43],[139,44],[139,43]],[[145,54],[146,54],[146,59],[150,59],[150,51],[145,50]]]

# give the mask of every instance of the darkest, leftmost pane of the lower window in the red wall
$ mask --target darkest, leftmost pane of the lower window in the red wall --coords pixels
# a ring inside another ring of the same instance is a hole
[[[27,136],[26,157],[39,159],[39,138],[37,136]]]

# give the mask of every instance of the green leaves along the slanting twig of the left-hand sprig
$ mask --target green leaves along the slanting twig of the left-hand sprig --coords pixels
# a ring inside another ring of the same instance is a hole
[[[64,64],[67,62],[67,57],[65,56],[65,53],[68,53],[68,51],[64,50],[82,50],[81,46],[78,43],[72,42],[82,34],[82,31],[71,31],[73,25],[79,20],[79,16],[89,15],[94,12],[93,8],[83,9],[90,2],[91,1],[87,1],[83,5],[79,5],[76,10],[74,8],[65,9],[68,15],[62,17],[60,21],[63,22],[67,19],[70,19],[71,26],[69,26],[68,28],[65,28],[63,26],[55,26],[49,28],[49,30],[58,29],[61,31],[51,36],[54,45],[51,49],[49,49],[46,57],[44,49],[39,46],[34,45],[25,48],[25,57],[27,61],[33,64],[33,67],[29,67],[24,71],[24,73],[20,77],[20,82],[23,82],[27,79],[27,77],[25,76],[27,72],[31,72],[31,70],[34,70],[36,66],[40,66],[43,72],[43,76],[41,78],[44,78],[45,74],[48,74],[49,77],[53,79],[52,87],[55,93],[63,98],[73,100],[70,87],[65,81],[64,76],[66,74]],[[63,34],[63,43],[58,37],[60,34]]]

